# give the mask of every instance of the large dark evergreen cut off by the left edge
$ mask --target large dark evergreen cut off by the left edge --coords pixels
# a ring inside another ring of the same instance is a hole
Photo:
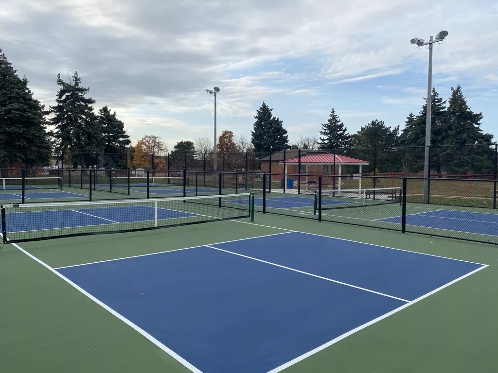
[[[48,164],[51,144],[44,106],[33,98],[26,77],[20,79],[0,49],[0,168]]]

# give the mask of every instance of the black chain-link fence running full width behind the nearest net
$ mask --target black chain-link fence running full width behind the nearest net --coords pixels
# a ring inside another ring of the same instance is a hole
[[[258,212],[498,244],[497,179],[169,170],[19,169],[0,204],[252,193]],[[429,203],[423,185],[429,184]],[[43,189],[43,190],[39,190]]]

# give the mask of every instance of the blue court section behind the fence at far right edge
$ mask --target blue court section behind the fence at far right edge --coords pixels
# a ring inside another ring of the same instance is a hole
[[[401,217],[378,219],[401,224]],[[406,215],[406,225],[498,236],[498,214],[436,210]]]

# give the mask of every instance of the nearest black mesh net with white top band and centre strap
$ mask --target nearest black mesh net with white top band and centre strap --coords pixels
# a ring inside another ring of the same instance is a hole
[[[253,218],[251,196],[3,205],[2,237],[4,243],[23,242]]]

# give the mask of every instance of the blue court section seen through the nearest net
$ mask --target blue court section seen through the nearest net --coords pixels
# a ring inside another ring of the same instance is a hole
[[[189,212],[157,209],[157,219],[178,219],[200,216]],[[154,221],[154,208],[146,205],[75,208],[64,210],[9,212],[5,217],[7,232],[32,231]],[[119,228],[117,228],[119,229]]]

